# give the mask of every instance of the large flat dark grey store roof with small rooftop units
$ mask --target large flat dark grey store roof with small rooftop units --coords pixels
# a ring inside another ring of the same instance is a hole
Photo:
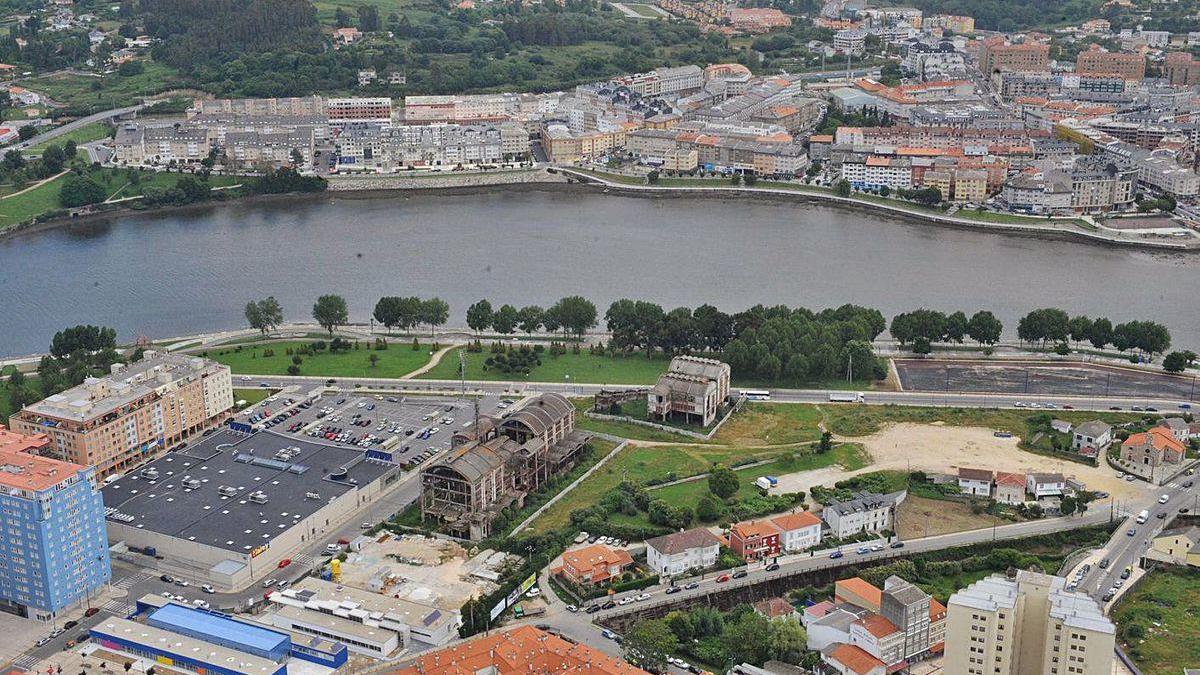
[[[278,459],[281,450],[289,459]],[[334,497],[395,466],[338,448],[260,431],[220,431],[168,453],[102,489],[108,520],[248,554]],[[157,471],[156,479],[146,477]],[[344,476],[340,471],[344,470]],[[233,489],[222,495],[221,488]],[[262,492],[265,503],[251,500]],[[308,496],[317,495],[317,496]]]

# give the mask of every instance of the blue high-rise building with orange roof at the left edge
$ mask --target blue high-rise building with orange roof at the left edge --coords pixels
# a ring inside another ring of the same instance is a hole
[[[104,502],[90,466],[17,436],[0,426],[0,610],[50,621],[112,578]]]

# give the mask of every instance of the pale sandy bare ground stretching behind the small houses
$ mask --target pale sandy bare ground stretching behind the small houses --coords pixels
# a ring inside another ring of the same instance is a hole
[[[1018,438],[997,438],[991,429],[979,426],[893,424],[870,436],[839,440],[862,443],[872,464],[858,471],[830,467],[780,476],[778,490],[809,491],[814,485],[832,485],[858,473],[881,470],[946,473],[962,466],[1014,473],[1062,473],[1082,480],[1090,490],[1109,492],[1117,500],[1145,497],[1147,490],[1140,480],[1127,483],[1118,479],[1116,472],[1106,466],[1091,467],[1027,453],[1016,447]]]

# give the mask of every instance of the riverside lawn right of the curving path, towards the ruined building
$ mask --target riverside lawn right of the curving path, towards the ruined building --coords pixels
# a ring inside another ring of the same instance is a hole
[[[468,352],[467,380],[515,380],[526,382],[587,382],[596,384],[653,384],[667,369],[667,359],[662,356],[647,359],[644,354],[629,357],[596,356],[588,352],[578,354],[565,353],[552,357],[542,353],[541,365],[535,366],[527,376],[500,372],[488,369],[484,362],[491,352],[485,346],[484,352]],[[458,353],[449,352],[442,362],[428,372],[421,375],[427,380],[458,380]]]

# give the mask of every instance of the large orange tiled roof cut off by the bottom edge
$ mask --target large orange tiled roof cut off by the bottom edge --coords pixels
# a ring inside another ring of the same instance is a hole
[[[647,675],[599,650],[539,631],[520,626],[494,635],[428,652],[413,665],[392,670],[389,675],[529,675],[554,673],[562,675]]]

